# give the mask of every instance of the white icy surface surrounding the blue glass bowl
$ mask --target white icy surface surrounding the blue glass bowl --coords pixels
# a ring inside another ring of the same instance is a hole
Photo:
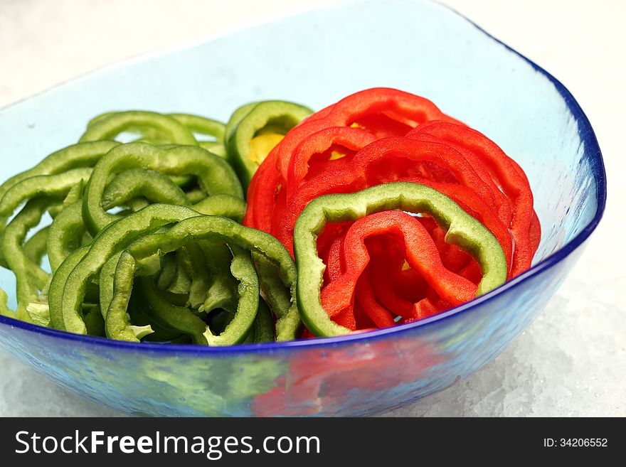
[[[170,45],[331,1],[0,0],[0,107]],[[391,416],[626,416],[626,1],[445,0],[561,80],[608,172],[605,218],[561,289],[502,355]],[[0,143],[1,144],[1,143]],[[1,416],[108,416],[0,353]]]

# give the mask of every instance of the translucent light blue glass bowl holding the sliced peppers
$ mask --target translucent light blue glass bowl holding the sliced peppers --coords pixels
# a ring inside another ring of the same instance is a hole
[[[373,86],[430,98],[521,164],[543,227],[529,271],[428,320],[341,338],[137,345],[0,318],[0,348],[88,399],[164,416],[370,414],[478,370],[529,325],[573,267],[603,214],[605,171],[568,90],[443,6],[367,1],[310,11],[56,87],[0,111],[0,178],[73,143],[90,117],[110,109],[227,119],[250,100],[319,109]],[[0,286],[14,290],[11,273],[0,272]]]

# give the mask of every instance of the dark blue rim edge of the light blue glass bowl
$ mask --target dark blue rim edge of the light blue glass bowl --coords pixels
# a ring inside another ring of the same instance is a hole
[[[429,326],[433,323],[438,323],[440,321],[452,318],[454,316],[459,315],[460,313],[467,313],[472,310],[475,306],[480,306],[486,301],[490,301],[494,299],[497,295],[503,294],[505,291],[516,289],[521,286],[522,283],[528,281],[532,277],[541,274],[541,272],[545,271],[558,264],[559,262],[566,259],[575,249],[583,245],[585,240],[591,235],[591,232],[595,230],[595,227],[598,227],[598,223],[602,218],[605,206],[606,206],[606,195],[607,195],[607,186],[606,186],[606,172],[605,166],[602,158],[602,153],[600,151],[600,146],[598,146],[598,139],[595,137],[595,133],[589,119],[583,112],[583,109],[580,108],[580,104],[576,102],[575,98],[569,92],[569,90],[546,70],[543,70],[539,65],[534,63],[529,58],[526,58],[521,53],[517,52],[513,48],[509,47],[499,39],[494,38],[491,34],[484,31],[483,28],[478,26],[476,23],[471,21],[469,18],[466,18],[458,11],[450,8],[447,5],[440,4],[440,6],[448,9],[454,14],[465,19],[471,23],[475,28],[477,28],[481,33],[485,36],[491,38],[493,41],[503,45],[507,50],[515,55],[518,55],[519,58],[526,60],[529,65],[531,65],[534,70],[544,75],[548,80],[552,82],[556,90],[561,94],[563,100],[566,102],[568,109],[573,115],[576,123],[578,124],[578,134],[580,135],[580,140],[584,143],[585,148],[585,159],[588,159],[590,163],[591,171],[593,176],[595,177],[595,187],[596,187],[596,197],[597,197],[597,206],[596,212],[593,219],[586,225],[583,230],[573,237],[566,245],[563,245],[561,249],[558,249],[553,254],[541,260],[541,262],[535,264],[533,267],[528,269],[526,272],[520,274],[519,276],[506,281],[506,283],[499,286],[497,289],[490,291],[487,294],[477,297],[476,299],[462,304],[460,306],[456,306],[455,308],[450,308],[450,310],[445,311],[445,313],[440,313],[437,316],[433,316],[432,318],[428,318],[422,321],[416,321],[414,323],[404,324],[400,326],[394,326],[392,328],[384,328],[379,329],[377,331],[369,331],[367,333],[354,333],[349,334],[347,336],[337,336],[331,338],[316,338],[316,339],[306,339],[306,340],[290,340],[287,342],[277,342],[277,343],[262,343],[262,344],[243,344],[243,345],[231,345],[227,347],[206,347],[203,345],[164,345],[157,343],[129,343],[123,342],[120,340],[110,340],[106,338],[99,338],[94,336],[84,336],[80,334],[68,333],[65,331],[58,331],[51,328],[44,328],[43,326],[37,326],[34,324],[26,323],[25,321],[19,321],[14,318],[9,318],[6,316],[0,316],[0,323],[11,326],[13,328],[20,328],[23,331],[29,331],[32,333],[42,334],[44,336],[50,336],[53,338],[60,338],[63,340],[70,340],[85,344],[93,344],[93,345],[103,345],[109,348],[119,348],[120,350],[133,350],[139,352],[147,352],[147,353],[166,353],[166,354],[197,354],[204,355],[206,357],[226,357],[238,354],[251,354],[251,353],[279,353],[282,350],[288,349],[310,349],[310,348],[319,348],[319,347],[338,347],[339,345],[346,345],[350,343],[370,343],[372,340],[378,340],[381,338],[385,338],[387,336],[402,336],[406,333],[410,333],[415,328],[422,328],[425,326]]]

